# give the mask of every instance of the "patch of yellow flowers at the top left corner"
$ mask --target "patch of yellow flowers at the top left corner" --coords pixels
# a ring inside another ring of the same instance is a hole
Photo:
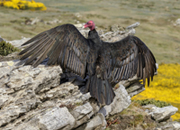
[[[43,3],[26,0],[0,0],[0,5],[12,9],[30,9],[30,10],[46,10],[46,6]]]

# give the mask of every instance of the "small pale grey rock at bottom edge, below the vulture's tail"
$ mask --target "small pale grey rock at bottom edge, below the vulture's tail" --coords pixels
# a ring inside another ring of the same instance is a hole
[[[93,130],[98,126],[101,126],[102,129],[105,129],[106,125],[107,122],[104,118],[104,115],[98,113],[89,123],[87,123],[87,126],[84,130]]]

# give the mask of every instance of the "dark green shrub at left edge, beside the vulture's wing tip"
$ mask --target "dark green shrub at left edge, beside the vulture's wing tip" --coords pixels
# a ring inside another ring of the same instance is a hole
[[[18,48],[14,47],[10,43],[7,43],[5,41],[0,42],[0,55],[7,56],[8,54],[11,54],[13,52],[20,51]]]

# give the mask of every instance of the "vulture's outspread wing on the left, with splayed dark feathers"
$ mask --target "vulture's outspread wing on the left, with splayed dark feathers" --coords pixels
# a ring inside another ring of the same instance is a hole
[[[57,26],[44,31],[23,45],[28,45],[19,53],[21,60],[27,59],[25,65],[38,66],[45,58],[47,65],[59,64],[75,74],[84,77],[86,57],[91,49],[88,39],[71,24]]]

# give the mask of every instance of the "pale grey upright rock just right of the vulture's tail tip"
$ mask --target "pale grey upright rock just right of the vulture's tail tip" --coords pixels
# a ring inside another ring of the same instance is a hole
[[[115,91],[115,98],[110,105],[102,107],[99,113],[102,113],[104,116],[114,115],[126,109],[131,104],[131,98],[128,95],[125,87],[119,85],[119,88]]]

